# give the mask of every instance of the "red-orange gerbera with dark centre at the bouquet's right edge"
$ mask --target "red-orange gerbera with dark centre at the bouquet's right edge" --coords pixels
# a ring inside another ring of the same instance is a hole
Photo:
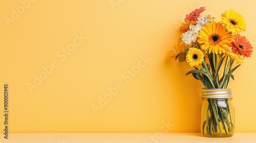
[[[231,42],[229,46],[232,46],[232,51],[236,54],[242,55],[244,57],[250,57],[252,54],[252,46],[245,36],[236,35],[234,42]]]

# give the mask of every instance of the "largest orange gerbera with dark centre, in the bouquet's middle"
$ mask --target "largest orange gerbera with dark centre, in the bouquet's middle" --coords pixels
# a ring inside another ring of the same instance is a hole
[[[198,42],[208,53],[225,53],[228,44],[234,41],[234,36],[226,31],[226,28],[220,22],[211,21],[202,27],[198,35]]]

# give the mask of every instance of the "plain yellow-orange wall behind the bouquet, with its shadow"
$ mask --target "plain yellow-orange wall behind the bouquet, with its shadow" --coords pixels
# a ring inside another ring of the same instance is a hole
[[[166,123],[168,132],[199,132],[202,85],[185,76],[191,69],[185,62],[166,61],[181,34],[177,26],[200,6],[218,21],[233,8],[246,21],[242,35],[255,46],[255,5],[252,0],[2,0],[0,131],[8,83],[11,133],[157,132]],[[255,54],[229,84],[236,132],[256,132]]]

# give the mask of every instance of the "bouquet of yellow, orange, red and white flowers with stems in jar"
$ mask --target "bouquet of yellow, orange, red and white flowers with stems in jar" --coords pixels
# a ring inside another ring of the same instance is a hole
[[[171,49],[168,59],[186,61],[194,67],[186,75],[193,75],[204,89],[226,89],[230,78],[234,80],[233,72],[244,62],[245,57],[252,54],[252,45],[245,36],[240,35],[245,31],[245,20],[233,9],[221,13],[219,22],[215,21],[212,14],[200,16],[203,11],[205,7],[186,15],[180,27],[183,34]],[[203,120],[201,113],[201,132],[205,136],[232,136],[234,125],[228,98],[222,101],[214,99],[207,98]]]

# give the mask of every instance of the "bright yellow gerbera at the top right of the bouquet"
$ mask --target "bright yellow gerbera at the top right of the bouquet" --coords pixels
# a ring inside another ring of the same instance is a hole
[[[243,16],[233,9],[225,10],[225,12],[221,14],[221,22],[222,25],[226,27],[227,31],[234,35],[245,31],[246,28]]]

